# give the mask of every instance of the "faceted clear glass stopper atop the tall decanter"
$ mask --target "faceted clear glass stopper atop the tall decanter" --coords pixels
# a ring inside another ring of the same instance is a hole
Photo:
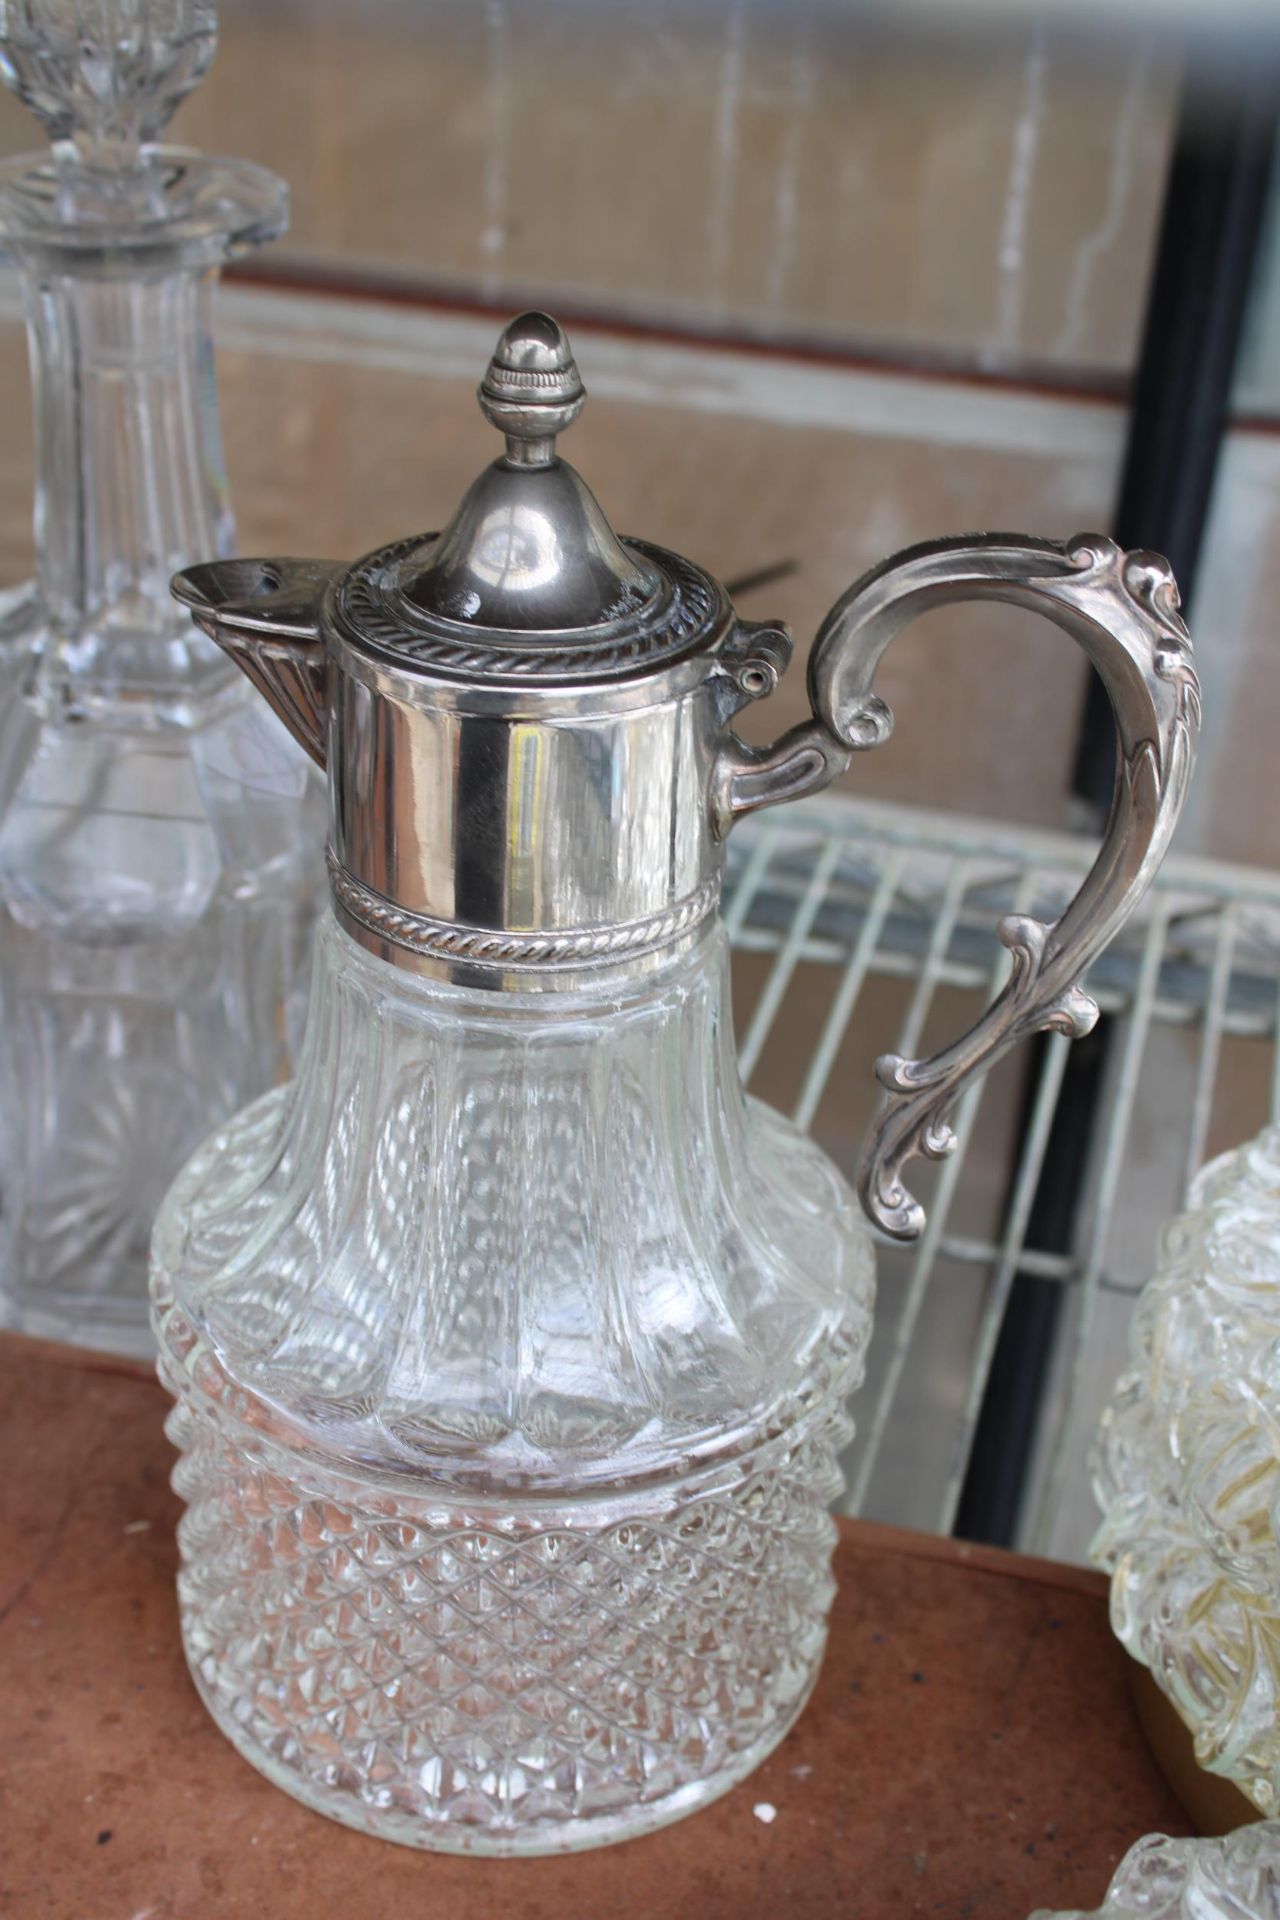
[[[0,77],[90,167],[136,167],[215,46],[215,0],[0,0]]]

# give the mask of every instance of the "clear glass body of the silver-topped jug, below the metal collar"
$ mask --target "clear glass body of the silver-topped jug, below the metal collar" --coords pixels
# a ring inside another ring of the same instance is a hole
[[[808,1695],[873,1261],[725,972],[495,1000],[326,925],[297,1081],[161,1210],[192,1672],[347,1824],[626,1837]]]

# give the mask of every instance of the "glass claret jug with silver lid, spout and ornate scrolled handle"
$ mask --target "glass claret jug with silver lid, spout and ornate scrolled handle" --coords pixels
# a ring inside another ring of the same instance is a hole
[[[1075,977],[1169,841],[1197,684],[1163,561],[981,536],[858,582],[814,716],[750,749],[733,716],[791,639],[610,530],[557,453],[583,388],[555,321],[510,323],[480,403],[507,445],[443,534],[175,584],[328,768],[334,910],[297,1079],[188,1162],[152,1294],[219,1726],[351,1826],[541,1853],[723,1793],[823,1649],[873,1254],[743,1096],[725,835],[887,737],[871,676],[921,609],[1038,609],[1109,689],[1094,872],[1055,924],[1004,922],[965,1039],[879,1064],[862,1202],[912,1236],[902,1169],[958,1091],[1090,1025]]]

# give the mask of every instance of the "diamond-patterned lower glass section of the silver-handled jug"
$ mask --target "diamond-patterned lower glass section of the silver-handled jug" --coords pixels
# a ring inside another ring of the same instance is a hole
[[[537,1851],[658,1824],[808,1695],[846,1432],[829,1417],[708,1500],[557,1523],[353,1507],[322,1475],[246,1471],[200,1421],[175,1476],[196,1682],[267,1774],[393,1839]]]

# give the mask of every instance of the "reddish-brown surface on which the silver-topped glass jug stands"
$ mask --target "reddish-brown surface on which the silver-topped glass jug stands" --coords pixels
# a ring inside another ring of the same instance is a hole
[[[808,1713],[718,1805],[522,1862],[345,1832],[261,1780],[186,1678],[163,1407],[140,1367],[0,1336],[6,1916],[1025,1920],[1094,1905],[1138,1834],[1186,1832],[1100,1578],[865,1524]]]

